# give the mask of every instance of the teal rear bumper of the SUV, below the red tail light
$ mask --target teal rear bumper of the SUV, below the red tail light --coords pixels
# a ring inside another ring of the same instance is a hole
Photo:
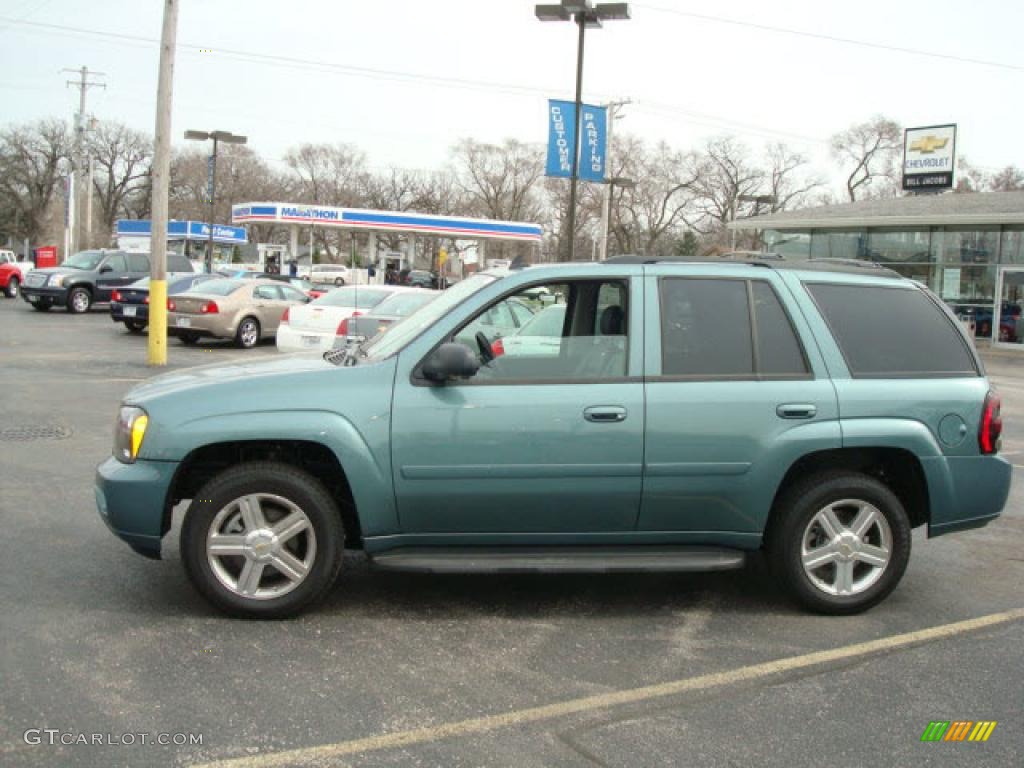
[[[1013,465],[1001,456],[923,459],[931,501],[929,537],[987,525],[1010,497]]]

